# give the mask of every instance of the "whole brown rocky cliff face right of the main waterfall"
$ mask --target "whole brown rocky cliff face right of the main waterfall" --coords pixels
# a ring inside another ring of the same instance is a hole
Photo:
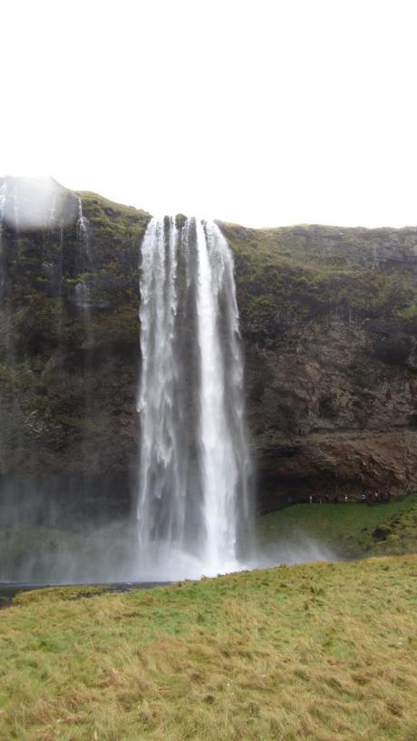
[[[417,483],[417,229],[223,226],[261,506]]]

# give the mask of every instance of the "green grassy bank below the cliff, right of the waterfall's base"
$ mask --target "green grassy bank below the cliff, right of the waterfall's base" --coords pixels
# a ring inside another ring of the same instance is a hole
[[[373,504],[297,504],[262,517],[266,544],[312,540],[342,558],[417,552],[417,494]]]

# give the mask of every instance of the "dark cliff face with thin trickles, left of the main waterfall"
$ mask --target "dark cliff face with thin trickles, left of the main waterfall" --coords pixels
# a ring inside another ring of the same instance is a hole
[[[100,524],[129,512],[135,488],[138,266],[150,217],[85,193],[86,225],[79,196],[59,196],[61,216],[44,226],[3,224],[0,517]]]

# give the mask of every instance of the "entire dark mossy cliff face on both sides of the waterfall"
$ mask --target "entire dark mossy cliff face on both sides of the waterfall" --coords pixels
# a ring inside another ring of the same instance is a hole
[[[65,219],[8,219],[1,234],[7,522],[102,522],[128,512],[135,490],[150,217],[59,193]],[[236,263],[259,509],[415,487],[417,229],[220,227]]]

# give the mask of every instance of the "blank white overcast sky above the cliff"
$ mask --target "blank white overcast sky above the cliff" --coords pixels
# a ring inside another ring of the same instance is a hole
[[[417,223],[416,0],[3,0],[0,172],[248,226]]]

